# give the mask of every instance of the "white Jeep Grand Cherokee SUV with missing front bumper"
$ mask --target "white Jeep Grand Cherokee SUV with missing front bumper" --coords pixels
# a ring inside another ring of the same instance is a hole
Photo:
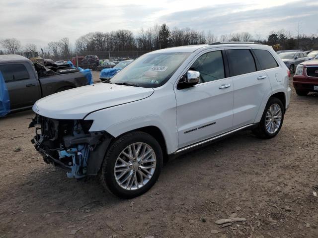
[[[99,175],[117,196],[150,189],[168,155],[241,129],[278,134],[289,70],[269,46],[213,43],[154,51],[111,80],[33,106],[32,140],[70,178]]]

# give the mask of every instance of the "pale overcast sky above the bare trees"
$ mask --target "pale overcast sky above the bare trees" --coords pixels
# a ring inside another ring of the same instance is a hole
[[[74,46],[89,32],[166,23],[211,30],[215,35],[285,29],[296,35],[318,33],[318,0],[0,0],[0,39],[17,38],[38,47],[69,37]]]

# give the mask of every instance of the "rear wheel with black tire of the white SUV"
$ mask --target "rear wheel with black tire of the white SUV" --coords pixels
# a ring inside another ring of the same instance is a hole
[[[278,134],[284,120],[284,106],[278,98],[270,98],[266,104],[263,116],[254,134],[262,139],[270,139]]]

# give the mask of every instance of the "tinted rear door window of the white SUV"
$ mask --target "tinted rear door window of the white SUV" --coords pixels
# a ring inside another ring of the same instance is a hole
[[[235,49],[227,50],[226,53],[230,63],[231,76],[256,71],[255,61],[250,50]]]

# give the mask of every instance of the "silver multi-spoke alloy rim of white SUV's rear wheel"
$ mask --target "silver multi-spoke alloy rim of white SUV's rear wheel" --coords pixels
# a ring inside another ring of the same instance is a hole
[[[265,126],[270,134],[274,134],[282,122],[282,109],[278,104],[272,104],[266,113]]]

